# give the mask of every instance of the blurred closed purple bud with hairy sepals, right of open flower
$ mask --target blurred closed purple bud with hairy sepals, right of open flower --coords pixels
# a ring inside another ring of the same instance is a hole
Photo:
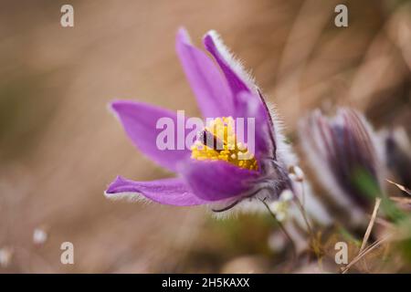
[[[374,131],[356,110],[340,108],[332,118],[315,110],[300,122],[300,140],[321,184],[335,203],[360,219],[374,202],[361,182],[384,193],[384,168]]]

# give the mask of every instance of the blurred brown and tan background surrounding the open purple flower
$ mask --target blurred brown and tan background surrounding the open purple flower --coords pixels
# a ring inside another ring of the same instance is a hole
[[[74,7],[74,27],[60,7]],[[349,26],[334,26],[348,6]],[[174,52],[185,26],[244,60],[291,141],[308,110],[363,110],[411,131],[408,1],[1,1],[0,273],[282,272],[269,217],[215,220],[205,208],[111,202],[117,174],[171,176],[107,110],[134,99],[199,111]],[[304,164],[304,157],[301,157]],[[74,265],[60,245],[74,245]],[[273,247],[274,246],[274,247]]]

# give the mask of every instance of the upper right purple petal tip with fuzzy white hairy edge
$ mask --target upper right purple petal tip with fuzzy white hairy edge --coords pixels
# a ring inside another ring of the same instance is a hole
[[[232,57],[215,31],[209,31],[203,41],[205,48],[216,58],[234,96],[241,91],[256,92],[253,80],[249,78],[241,64]]]

